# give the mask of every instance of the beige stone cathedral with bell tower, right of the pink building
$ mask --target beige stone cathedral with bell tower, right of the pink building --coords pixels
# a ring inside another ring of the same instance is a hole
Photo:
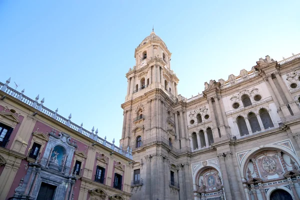
[[[153,31],[126,73],[120,147],[132,148],[131,199],[299,199],[300,54],[178,94]]]

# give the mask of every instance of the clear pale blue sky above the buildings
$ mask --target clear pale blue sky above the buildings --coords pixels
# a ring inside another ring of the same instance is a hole
[[[107,141],[121,137],[125,73],[155,33],[186,98],[260,57],[300,53],[299,0],[0,0],[0,81],[39,94]]]

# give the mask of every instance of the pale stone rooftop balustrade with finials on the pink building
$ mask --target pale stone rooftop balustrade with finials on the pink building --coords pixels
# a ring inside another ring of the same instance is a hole
[[[28,96],[25,96],[23,93],[24,93],[24,89],[19,92],[11,87],[8,86],[10,82],[10,78],[8,78],[6,80],[5,83],[2,83],[0,82],[0,90],[4,91],[5,93],[7,93],[8,95],[16,98],[16,99],[19,99],[20,101],[30,105],[31,107],[39,110],[40,112],[56,119],[57,121],[59,121],[60,123],[63,123],[64,125],[67,125],[69,126],[70,128],[74,129],[75,131],[78,131],[80,132],[81,134],[84,134],[85,136],[88,136],[92,139],[94,139],[95,141],[101,143],[102,145],[108,147],[108,148],[111,148],[112,150],[132,159],[132,149],[129,149],[129,147],[127,148],[127,150],[122,150],[121,148],[117,147],[114,145],[114,138],[112,140],[112,143],[106,141],[106,136],[104,137],[104,139],[102,139],[101,137],[99,137],[97,135],[97,132],[98,130],[95,131],[95,133],[93,132],[94,131],[94,128],[92,128],[92,131],[88,131],[86,129],[84,129],[82,126],[83,124],[81,123],[81,125],[77,125],[73,122],[71,122],[71,114],[68,116],[68,118],[65,118],[61,115],[59,115],[57,113],[58,109],[56,109],[55,111],[53,110],[50,110],[49,108],[45,107],[43,105],[43,102],[44,102],[44,98],[39,102],[37,102],[37,100],[39,99],[39,95],[37,95],[35,97],[35,100],[29,98]]]

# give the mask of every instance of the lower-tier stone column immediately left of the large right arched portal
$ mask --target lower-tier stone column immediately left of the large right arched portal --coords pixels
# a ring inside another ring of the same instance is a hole
[[[234,192],[233,192],[234,199],[242,199],[240,191],[239,191],[239,187],[238,187],[238,182],[237,182],[238,180],[236,178],[236,174],[234,171],[235,168],[232,167],[233,160],[232,160],[232,152],[231,151],[228,151],[225,153],[224,160],[225,160],[226,168],[227,168],[228,175],[229,175],[230,185],[232,186],[232,189],[234,189]]]

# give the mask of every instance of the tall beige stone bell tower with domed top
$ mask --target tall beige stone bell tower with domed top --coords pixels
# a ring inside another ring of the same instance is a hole
[[[123,149],[132,148],[135,161],[131,199],[178,199],[178,180],[182,181],[184,175],[176,170],[174,157],[177,151],[189,148],[190,142],[184,112],[173,111],[181,96],[177,95],[179,80],[170,68],[171,53],[152,31],[135,48],[134,57],[135,66],[126,73],[120,139]],[[186,186],[192,187],[190,183]]]

